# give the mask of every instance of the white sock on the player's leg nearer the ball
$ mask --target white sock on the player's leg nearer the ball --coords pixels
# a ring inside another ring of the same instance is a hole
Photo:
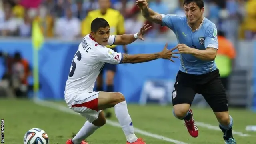
[[[88,138],[98,128],[100,128],[100,127],[95,126],[94,124],[86,121],[84,123],[84,126],[79,130],[79,132],[76,134],[76,136],[72,139],[72,142],[74,144],[80,144],[82,142],[82,140]]]

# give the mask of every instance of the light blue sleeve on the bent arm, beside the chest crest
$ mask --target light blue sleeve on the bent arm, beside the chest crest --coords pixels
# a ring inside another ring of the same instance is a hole
[[[218,38],[217,38],[217,28],[215,24],[210,24],[206,28],[206,36],[205,36],[205,42],[204,47],[205,48],[219,48],[218,44]]]

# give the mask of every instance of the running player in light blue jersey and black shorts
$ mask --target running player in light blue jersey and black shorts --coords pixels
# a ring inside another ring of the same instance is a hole
[[[202,94],[220,123],[226,144],[236,144],[226,92],[214,62],[218,50],[217,28],[203,16],[204,1],[184,0],[184,17],[158,14],[148,8],[146,0],[136,0],[136,5],[147,20],[167,26],[178,39],[181,63],[172,92],[174,116],[184,120],[190,135],[197,137],[198,127],[190,106],[195,94]]]

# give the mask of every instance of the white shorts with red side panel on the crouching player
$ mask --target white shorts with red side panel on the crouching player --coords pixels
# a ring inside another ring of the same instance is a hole
[[[98,96],[100,92],[85,92],[74,98],[71,109],[89,122],[93,122],[102,110],[98,110]]]

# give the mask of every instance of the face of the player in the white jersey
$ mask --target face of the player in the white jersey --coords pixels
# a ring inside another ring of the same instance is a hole
[[[97,32],[92,32],[91,36],[102,46],[108,45],[110,28],[99,28]]]

